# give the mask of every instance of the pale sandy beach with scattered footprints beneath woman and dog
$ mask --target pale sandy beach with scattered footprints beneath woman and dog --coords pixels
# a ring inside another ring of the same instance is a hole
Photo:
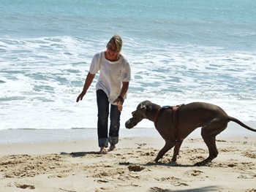
[[[97,139],[0,145],[0,191],[256,191],[256,137],[219,137],[208,166],[203,139],[187,138],[175,166],[173,150],[153,162],[157,138],[121,138],[118,150],[98,153]]]

